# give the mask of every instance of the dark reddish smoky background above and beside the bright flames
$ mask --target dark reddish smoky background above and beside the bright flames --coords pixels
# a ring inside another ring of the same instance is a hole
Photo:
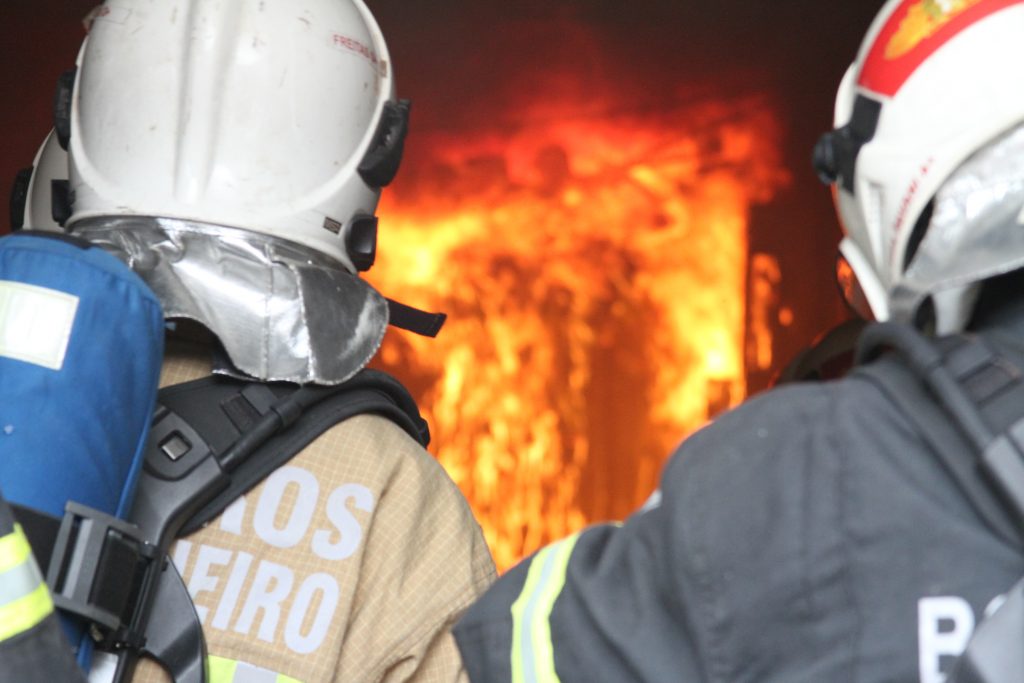
[[[126,1],[126,0],[125,0]],[[72,66],[92,0],[0,3],[0,187],[28,165],[50,128],[53,85]],[[839,228],[810,150],[830,124],[836,86],[880,0],[370,0],[388,39],[399,94],[415,102],[417,130],[501,125],[515,93],[588,105],[589,89],[615,82],[623,105],[672,106],[681,93],[772,92],[784,123],[793,181],[756,210],[752,246],[774,254],[780,295],[795,322],[776,336],[779,361],[838,322],[833,285]],[[566,69],[562,69],[562,68]],[[558,92],[555,90],[558,89]],[[416,164],[412,145],[407,165]],[[400,183],[400,177],[399,181]],[[6,212],[3,214],[6,215]],[[6,231],[6,220],[0,232]],[[757,382],[754,383],[755,388]]]

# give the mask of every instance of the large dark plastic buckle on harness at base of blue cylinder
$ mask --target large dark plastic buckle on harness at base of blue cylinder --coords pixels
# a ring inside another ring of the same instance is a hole
[[[93,625],[93,637],[112,647],[141,648],[132,623],[139,588],[156,569],[157,547],[135,525],[69,502],[60,520],[46,583],[53,604]]]

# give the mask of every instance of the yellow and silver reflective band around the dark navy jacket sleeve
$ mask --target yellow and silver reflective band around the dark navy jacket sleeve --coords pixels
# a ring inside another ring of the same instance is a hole
[[[512,683],[559,683],[551,642],[551,610],[565,586],[579,533],[539,552],[512,603]]]

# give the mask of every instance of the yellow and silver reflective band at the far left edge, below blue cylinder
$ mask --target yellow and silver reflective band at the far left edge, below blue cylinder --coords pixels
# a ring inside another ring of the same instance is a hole
[[[0,538],[0,641],[7,640],[53,613],[53,600],[32,556],[20,524]]]

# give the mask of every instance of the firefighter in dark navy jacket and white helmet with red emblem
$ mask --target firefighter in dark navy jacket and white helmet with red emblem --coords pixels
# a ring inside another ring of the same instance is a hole
[[[867,312],[895,326],[873,329],[984,344],[1009,360],[975,366],[989,394],[1024,367],[1022,35],[1020,0],[890,0],[816,154]],[[624,524],[508,571],[456,627],[470,679],[945,680],[1024,544],[975,454],[943,445],[958,432],[914,417],[938,401],[901,357],[752,398]]]

